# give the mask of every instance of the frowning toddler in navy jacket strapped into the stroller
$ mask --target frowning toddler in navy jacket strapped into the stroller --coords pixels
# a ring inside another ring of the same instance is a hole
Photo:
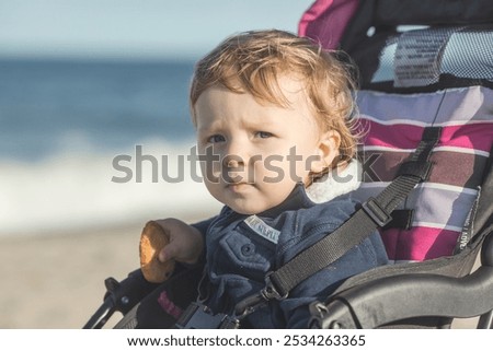
[[[232,36],[196,65],[190,103],[200,167],[225,207],[194,225],[158,221],[171,237],[159,259],[205,259],[200,297],[215,313],[232,314],[264,288],[267,272],[357,209],[349,195],[358,184],[353,89],[333,52],[282,31]],[[256,308],[242,327],[305,328],[311,302],[386,262],[374,233],[287,299]]]

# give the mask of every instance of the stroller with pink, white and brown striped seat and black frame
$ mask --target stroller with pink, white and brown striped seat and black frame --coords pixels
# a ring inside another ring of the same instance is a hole
[[[448,328],[477,316],[478,328],[493,327],[491,19],[488,0],[318,0],[303,14],[300,35],[342,48],[359,69],[364,177],[354,196],[364,204],[340,232],[349,237],[342,250],[380,227],[394,261],[310,305],[309,327]],[[163,284],[139,270],[108,278],[84,328],[114,312],[124,314],[118,328],[171,328],[179,316],[161,296],[185,309],[200,277],[181,267]]]

